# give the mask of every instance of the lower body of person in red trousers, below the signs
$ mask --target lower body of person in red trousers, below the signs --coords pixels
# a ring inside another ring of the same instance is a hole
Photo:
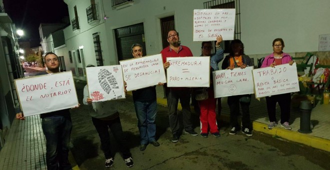
[[[216,123],[216,98],[214,98],[214,92],[212,88],[208,88],[208,98],[205,100],[199,100],[200,108],[200,133],[208,133],[208,129],[211,133],[219,132]]]

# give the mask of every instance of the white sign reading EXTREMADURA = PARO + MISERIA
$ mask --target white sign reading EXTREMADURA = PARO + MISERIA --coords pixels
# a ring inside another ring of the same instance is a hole
[[[168,87],[209,87],[209,56],[167,57]]]

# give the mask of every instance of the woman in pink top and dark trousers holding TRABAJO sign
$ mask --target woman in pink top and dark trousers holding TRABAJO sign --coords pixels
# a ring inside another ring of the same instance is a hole
[[[262,67],[271,66],[275,67],[275,65],[286,64],[289,63],[292,65],[293,60],[291,56],[285,52],[283,52],[284,41],[282,38],[276,38],[272,41],[272,50],[273,53],[267,55],[261,65]],[[280,107],[280,124],[285,129],[291,129],[288,121],[290,118],[290,103],[291,103],[291,94],[277,94],[266,97],[267,103],[267,111],[270,123],[268,124],[268,128],[271,129],[277,125],[276,120],[276,102]]]

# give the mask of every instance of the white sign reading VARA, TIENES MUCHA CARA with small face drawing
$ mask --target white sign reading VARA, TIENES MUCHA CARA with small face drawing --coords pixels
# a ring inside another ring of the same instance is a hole
[[[213,71],[214,98],[253,93],[252,66]]]

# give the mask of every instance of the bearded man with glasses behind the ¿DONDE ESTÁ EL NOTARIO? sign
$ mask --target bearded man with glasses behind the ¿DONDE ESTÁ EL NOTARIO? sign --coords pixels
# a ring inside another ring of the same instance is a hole
[[[56,54],[48,52],[44,55],[46,71],[36,75],[59,72],[59,61]],[[76,106],[78,107],[78,106]],[[21,110],[17,110],[16,118],[24,120]],[[56,110],[40,114],[42,131],[46,139],[47,169],[71,169],[68,151],[72,122],[69,109]]]

